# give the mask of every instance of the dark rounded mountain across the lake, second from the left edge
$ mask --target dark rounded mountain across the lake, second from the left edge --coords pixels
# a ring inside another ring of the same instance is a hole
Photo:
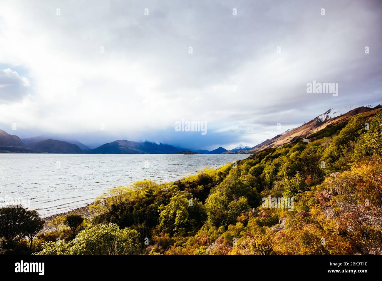
[[[40,153],[83,153],[81,148],[67,141],[42,140],[29,146]]]

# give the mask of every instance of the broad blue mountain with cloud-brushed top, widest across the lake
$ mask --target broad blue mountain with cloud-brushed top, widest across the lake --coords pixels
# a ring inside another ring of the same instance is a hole
[[[163,143],[157,144],[150,141],[137,142],[128,140],[116,140],[111,143],[105,143],[97,148],[91,149],[91,153],[114,153],[114,154],[166,154],[185,151],[185,148],[179,148]]]

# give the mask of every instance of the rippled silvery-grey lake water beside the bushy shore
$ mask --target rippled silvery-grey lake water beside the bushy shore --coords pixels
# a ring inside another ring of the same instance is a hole
[[[138,180],[172,182],[248,154],[0,154],[0,206],[18,203],[41,216],[91,203]]]

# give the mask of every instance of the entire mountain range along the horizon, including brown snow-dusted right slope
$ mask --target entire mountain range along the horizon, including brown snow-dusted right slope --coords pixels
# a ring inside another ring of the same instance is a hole
[[[21,140],[16,135],[10,135],[0,130],[0,153],[111,153],[111,154],[172,154],[185,153],[186,151],[202,154],[253,154],[266,148],[277,148],[278,146],[291,143],[298,139],[314,138],[315,135],[325,130],[333,132],[338,128],[344,127],[351,117],[356,114],[366,116],[376,114],[382,110],[382,104],[371,106],[349,106],[342,109],[329,109],[323,114],[315,117],[303,125],[286,130],[274,138],[259,143],[256,146],[249,147],[238,145],[232,150],[219,147],[212,151],[204,149],[188,149],[176,147],[164,143],[155,143],[150,141],[128,141],[116,140],[111,143],[105,143],[97,148],[90,149],[78,140],[62,136],[35,136],[23,138]],[[191,154],[191,153],[187,153]]]

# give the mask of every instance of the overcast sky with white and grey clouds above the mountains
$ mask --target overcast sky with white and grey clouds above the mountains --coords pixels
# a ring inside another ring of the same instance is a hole
[[[0,128],[21,138],[232,149],[272,138],[277,123],[285,131],[332,107],[382,102],[381,1],[0,7]],[[313,80],[338,83],[338,96],[308,94]],[[207,134],[176,132],[182,119],[206,122]]]

